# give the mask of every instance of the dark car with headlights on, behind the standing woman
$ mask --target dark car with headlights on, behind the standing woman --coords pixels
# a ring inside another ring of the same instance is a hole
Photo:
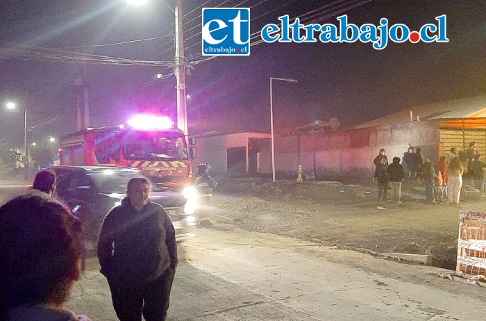
[[[58,199],[81,219],[88,251],[96,248],[105,215],[126,196],[128,181],[143,176],[140,171],[127,167],[54,166],[51,170],[58,176]],[[185,211],[185,197],[156,183],[151,183],[151,188],[151,201],[164,206],[176,229],[177,240],[194,236],[196,218],[194,213],[187,213],[191,206]]]

